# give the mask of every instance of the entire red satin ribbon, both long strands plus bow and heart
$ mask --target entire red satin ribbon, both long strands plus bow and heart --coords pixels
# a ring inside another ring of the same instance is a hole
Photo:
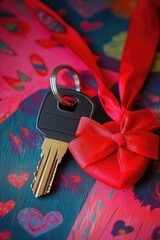
[[[73,157],[84,171],[105,184],[117,189],[133,185],[144,174],[149,158],[158,158],[159,137],[151,133],[159,128],[158,121],[150,110],[130,111],[149,73],[159,41],[159,17],[154,2],[139,0],[132,15],[120,65],[120,103],[107,87],[81,36],[39,1],[25,2],[34,14],[41,9],[64,27],[64,32],[57,32],[41,22],[57,42],[69,47],[96,76],[101,103],[115,121],[100,125],[82,118],[78,138],[69,144]]]

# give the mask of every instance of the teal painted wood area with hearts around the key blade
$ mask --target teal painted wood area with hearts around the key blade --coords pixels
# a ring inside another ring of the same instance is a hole
[[[6,204],[0,205],[0,232],[9,230],[14,240],[66,239],[95,182],[68,152],[58,168],[51,193],[41,198],[33,195],[30,184],[43,141],[36,130],[36,117],[45,93],[42,90],[30,96],[0,126],[0,202]],[[22,173],[26,175],[20,177]],[[7,214],[4,208],[9,211]],[[38,220],[40,214],[43,217]]]

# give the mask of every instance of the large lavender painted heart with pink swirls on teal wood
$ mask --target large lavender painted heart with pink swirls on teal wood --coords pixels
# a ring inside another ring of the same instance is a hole
[[[44,217],[35,208],[24,208],[18,214],[19,224],[33,237],[40,236],[63,222],[60,212],[52,211]]]

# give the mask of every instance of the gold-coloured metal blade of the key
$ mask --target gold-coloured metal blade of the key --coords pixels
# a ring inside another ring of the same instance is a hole
[[[63,156],[67,151],[68,143],[45,138],[42,145],[41,160],[39,161],[35,178],[31,185],[35,197],[50,192],[52,182]]]

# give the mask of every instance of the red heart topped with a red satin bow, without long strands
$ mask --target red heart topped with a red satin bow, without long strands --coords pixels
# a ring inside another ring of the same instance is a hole
[[[117,189],[137,182],[149,158],[158,158],[159,123],[149,109],[125,111],[120,122],[103,125],[82,117],[69,149],[77,163],[97,180]],[[101,173],[101,174],[100,174]]]

